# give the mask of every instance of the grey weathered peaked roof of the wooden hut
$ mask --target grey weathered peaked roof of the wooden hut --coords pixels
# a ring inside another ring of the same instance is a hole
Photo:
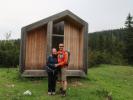
[[[78,17],[77,15],[73,14],[71,11],[65,10],[58,14],[52,15],[50,17],[47,17],[45,19],[42,19],[40,21],[34,22],[30,25],[27,25],[27,26],[23,27],[22,29],[30,31],[32,29],[35,29],[35,28],[38,28],[38,27],[41,27],[41,26],[47,24],[49,21],[58,22],[63,19],[69,19],[69,20],[75,21],[76,23],[83,25],[83,26],[87,23],[83,19]]]

